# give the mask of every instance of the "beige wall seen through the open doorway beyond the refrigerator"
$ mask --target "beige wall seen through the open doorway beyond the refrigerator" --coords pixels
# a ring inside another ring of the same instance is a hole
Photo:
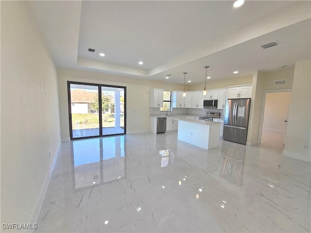
[[[263,116],[263,130],[285,133],[288,104],[291,92],[274,92],[266,94]]]

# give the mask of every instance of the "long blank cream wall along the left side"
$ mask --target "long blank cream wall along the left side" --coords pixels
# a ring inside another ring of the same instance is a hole
[[[31,218],[60,145],[60,124],[50,54],[24,2],[0,4],[2,230],[3,223],[35,223]]]

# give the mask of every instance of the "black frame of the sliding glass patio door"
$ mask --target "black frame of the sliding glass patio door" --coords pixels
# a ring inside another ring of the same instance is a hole
[[[99,135],[96,136],[87,136],[87,137],[72,137],[72,118],[71,118],[71,98],[70,98],[70,84],[80,84],[80,85],[91,85],[98,87],[98,107],[99,107]],[[103,135],[103,122],[102,122],[102,87],[113,87],[113,88],[123,88],[124,90],[124,133],[117,133],[117,134],[108,134]],[[68,114],[69,114],[69,135],[70,140],[80,140],[86,138],[94,138],[94,137],[105,137],[105,136],[112,136],[112,135],[122,135],[126,134],[126,86],[117,86],[117,85],[108,85],[108,84],[101,84],[101,83],[83,83],[83,82],[75,82],[75,81],[67,81],[67,94],[68,94]]]

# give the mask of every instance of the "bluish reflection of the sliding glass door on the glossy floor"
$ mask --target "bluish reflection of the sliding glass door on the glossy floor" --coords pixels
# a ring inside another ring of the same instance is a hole
[[[124,136],[115,136],[72,141],[74,189],[124,178],[124,140]]]

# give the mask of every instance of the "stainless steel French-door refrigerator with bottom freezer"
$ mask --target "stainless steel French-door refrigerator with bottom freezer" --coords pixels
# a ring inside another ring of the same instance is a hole
[[[223,139],[246,144],[251,99],[229,99],[225,104]]]

